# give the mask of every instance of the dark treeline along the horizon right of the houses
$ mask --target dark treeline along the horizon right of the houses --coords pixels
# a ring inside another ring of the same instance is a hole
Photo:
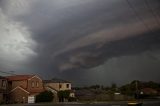
[[[140,94],[141,90],[145,88],[150,88],[155,91],[157,91],[157,95],[159,95],[160,92],[160,83],[156,83],[153,81],[139,81],[139,80],[134,80],[128,84],[122,85],[122,86],[117,86],[116,83],[111,84],[110,86],[104,86],[104,85],[92,85],[88,87],[75,87],[73,89],[75,90],[96,90],[97,92],[100,91],[107,91],[108,93],[114,94],[114,93],[120,93],[123,95],[128,95],[128,96],[134,96],[135,94]]]

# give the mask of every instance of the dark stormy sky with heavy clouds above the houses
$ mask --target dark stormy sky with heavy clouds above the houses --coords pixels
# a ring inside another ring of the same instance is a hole
[[[160,1],[0,0],[0,69],[74,85],[160,82]]]

